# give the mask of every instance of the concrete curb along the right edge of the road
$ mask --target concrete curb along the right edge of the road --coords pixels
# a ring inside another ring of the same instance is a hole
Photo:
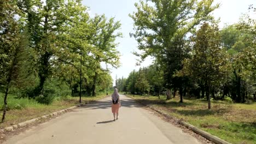
[[[129,98],[132,98],[132,97],[129,97]],[[132,99],[134,99],[135,101],[137,101],[135,98],[132,98]],[[139,104],[142,104],[142,103],[139,103]],[[142,105],[145,105],[145,104],[142,104]],[[145,105],[145,106],[147,106],[147,105]],[[207,140],[210,140],[210,141],[212,141],[212,142],[214,142],[214,143],[217,143],[217,144],[231,144],[231,143],[229,143],[229,142],[226,142],[226,141],[220,139],[220,138],[217,137],[217,136],[211,135],[211,134],[207,133],[206,131],[203,131],[203,130],[201,130],[201,129],[199,129],[199,128],[194,127],[194,125],[191,125],[191,124],[189,124],[189,123],[184,122],[183,119],[179,119],[179,118],[170,116],[170,115],[168,115],[168,114],[165,113],[165,112],[156,110],[153,106],[148,106],[148,107],[149,107],[149,109],[152,109],[152,110],[154,110],[154,111],[160,113],[161,115],[163,115],[163,116],[165,116],[165,117],[167,117],[167,118],[175,119],[176,121],[178,121],[178,124],[181,124],[181,125],[183,125],[184,127],[186,127],[186,128],[188,128],[188,129],[194,131],[195,133],[197,133],[197,134],[199,134],[199,135],[205,137]]]

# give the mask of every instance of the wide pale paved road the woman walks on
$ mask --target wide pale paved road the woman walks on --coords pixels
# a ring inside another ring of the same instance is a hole
[[[120,117],[115,122],[108,97],[40,124],[5,143],[199,143],[182,129],[142,109],[134,100],[124,95],[120,99]]]

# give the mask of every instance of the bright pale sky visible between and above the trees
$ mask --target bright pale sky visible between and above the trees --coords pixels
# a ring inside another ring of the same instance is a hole
[[[123,38],[118,38],[119,43],[117,50],[121,53],[121,67],[118,69],[112,68],[111,76],[113,81],[115,77],[128,77],[132,70],[138,70],[139,67],[147,67],[152,64],[153,59],[147,58],[140,66],[136,66],[136,57],[131,52],[138,51],[137,41],[130,37],[130,32],[133,31],[133,20],[129,17],[133,11],[136,11],[134,4],[139,0],[83,0],[83,4],[89,7],[91,16],[95,14],[105,14],[106,17],[115,17],[116,21],[121,22]],[[242,13],[248,12],[249,4],[256,6],[256,0],[215,0],[215,3],[220,3],[220,8],[215,10],[213,15],[220,18],[219,26],[222,28],[225,23],[232,24],[239,20]],[[254,18],[256,14],[253,14]]]

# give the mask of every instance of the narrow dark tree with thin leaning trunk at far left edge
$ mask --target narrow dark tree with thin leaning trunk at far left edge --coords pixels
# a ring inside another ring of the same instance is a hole
[[[14,15],[18,11],[15,1],[0,2],[0,80],[5,85],[4,110],[2,122],[7,111],[7,97],[11,81],[15,80],[18,73],[19,52],[22,49],[20,43],[19,23]]]

